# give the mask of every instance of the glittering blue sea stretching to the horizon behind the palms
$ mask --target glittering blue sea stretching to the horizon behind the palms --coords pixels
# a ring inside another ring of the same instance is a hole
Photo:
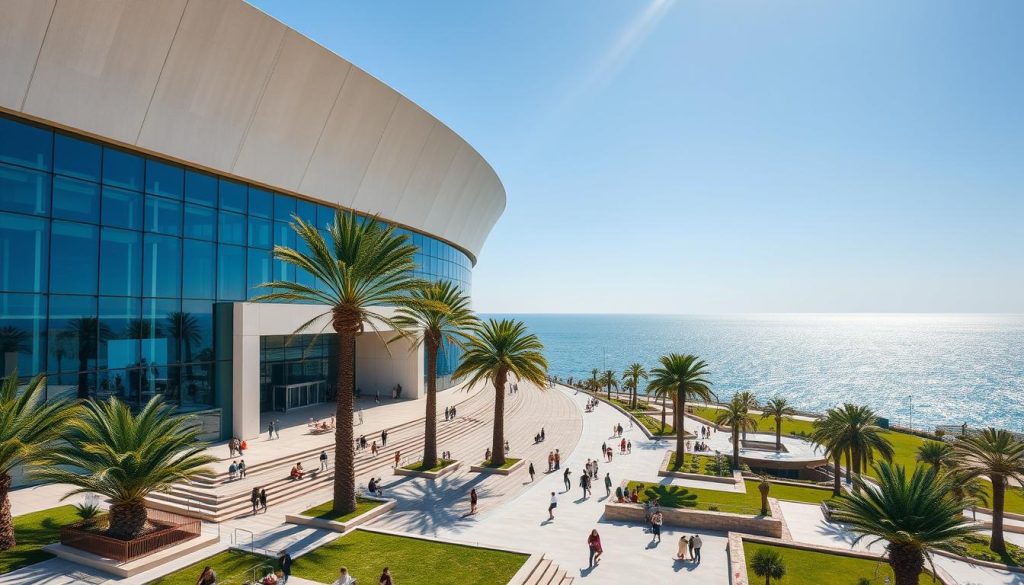
[[[902,425],[912,405],[918,428],[967,422],[1024,430],[1020,315],[484,317],[523,320],[562,378],[695,353],[722,400],[752,390],[815,412],[850,401]]]

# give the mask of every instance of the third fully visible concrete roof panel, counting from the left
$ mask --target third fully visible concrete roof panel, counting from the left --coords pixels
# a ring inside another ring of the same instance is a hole
[[[419,106],[398,99],[352,207],[394,217],[433,125],[434,119]]]

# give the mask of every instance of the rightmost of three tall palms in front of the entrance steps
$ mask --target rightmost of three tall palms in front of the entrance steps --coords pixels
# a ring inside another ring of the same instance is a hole
[[[548,361],[544,358],[544,344],[526,331],[521,321],[488,320],[466,343],[462,364],[452,374],[467,377],[470,386],[483,380],[495,386],[495,427],[490,442],[490,465],[505,464],[505,383],[511,374],[544,387],[548,374]]]

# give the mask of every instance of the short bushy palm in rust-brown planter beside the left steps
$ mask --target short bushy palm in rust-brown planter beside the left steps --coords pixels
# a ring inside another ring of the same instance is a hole
[[[209,473],[217,459],[204,455],[196,417],[177,415],[154,396],[138,414],[116,398],[89,402],[69,421],[63,442],[45,454],[34,475],[68,484],[68,493],[99,494],[111,500],[108,535],[137,537],[145,528],[145,497],[171,484]]]

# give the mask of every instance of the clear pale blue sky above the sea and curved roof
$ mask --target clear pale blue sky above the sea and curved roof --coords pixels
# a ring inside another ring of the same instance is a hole
[[[1024,2],[253,3],[494,165],[482,311],[1024,312]]]

